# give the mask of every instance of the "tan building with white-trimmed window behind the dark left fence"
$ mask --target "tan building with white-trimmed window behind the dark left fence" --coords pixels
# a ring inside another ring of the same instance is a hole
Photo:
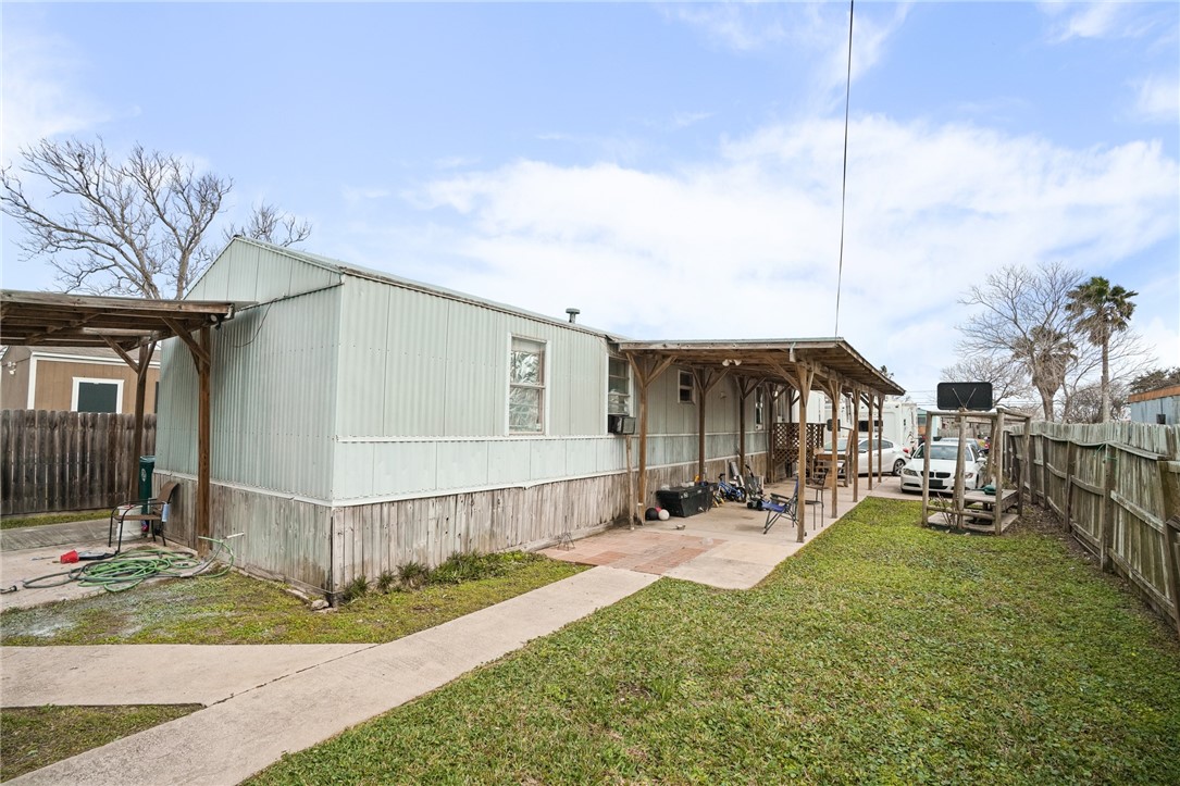
[[[156,412],[159,353],[150,363],[144,412]],[[136,408],[136,373],[113,349],[5,347],[0,354],[0,408],[129,413]]]

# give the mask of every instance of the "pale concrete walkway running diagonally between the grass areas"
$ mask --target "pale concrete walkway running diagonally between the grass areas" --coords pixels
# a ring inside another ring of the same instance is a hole
[[[236,784],[278,760],[286,752],[302,751],[349,726],[417,699],[473,668],[494,661],[538,636],[553,633],[596,609],[610,605],[643,589],[658,577],[614,568],[595,568],[525,595],[489,607],[465,617],[405,638],[363,647],[352,653],[322,653],[323,660],[293,674],[235,693],[228,685],[208,688],[230,690],[229,699],[178,720],[156,726],[65,761],[17,778],[13,784]],[[35,659],[47,648],[37,650]],[[76,669],[59,660],[57,682],[42,685],[47,693],[67,693],[68,703],[79,702],[78,692],[91,680],[78,680],[83,650]],[[111,647],[119,674],[138,674],[146,663],[146,647]],[[224,648],[175,648],[191,650],[190,662],[178,666],[221,669],[216,653]],[[237,648],[234,648],[237,649]],[[269,651],[270,647],[267,648]],[[278,648],[283,649],[283,648]],[[290,648],[299,649],[299,648]],[[54,653],[59,659],[66,653]],[[5,679],[8,653],[5,651]],[[20,660],[21,655],[18,657]],[[296,657],[293,655],[293,657]],[[313,660],[320,655],[313,654]],[[297,660],[297,657],[296,657]],[[14,661],[15,663],[15,661]],[[22,668],[28,668],[26,661]],[[111,673],[107,673],[109,676]],[[149,672],[150,675],[150,672]],[[163,681],[164,675],[155,679]],[[189,679],[188,676],[185,679]],[[196,674],[194,674],[196,680]],[[256,679],[268,679],[260,673]],[[53,682],[53,677],[46,676]],[[153,681],[152,676],[148,681]],[[199,680],[198,680],[199,681]],[[216,679],[208,680],[210,686]],[[241,687],[242,683],[238,683]],[[177,689],[178,690],[178,689]],[[204,690],[204,689],[203,689]],[[31,692],[30,692],[31,693]],[[194,695],[196,695],[195,692]],[[7,703],[7,685],[5,687]],[[178,693],[170,694],[177,701]],[[26,699],[35,700],[35,699]]]

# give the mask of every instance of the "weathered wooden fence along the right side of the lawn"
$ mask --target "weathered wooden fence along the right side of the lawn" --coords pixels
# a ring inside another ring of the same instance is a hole
[[[1029,499],[1180,630],[1180,427],[1037,421],[1008,440]]]

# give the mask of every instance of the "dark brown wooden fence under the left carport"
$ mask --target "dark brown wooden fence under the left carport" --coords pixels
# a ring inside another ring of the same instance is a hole
[[[0,411],[0,513],[113,507],[135,478],[133,414]],[[144,415],[144,453],[156,415]]]

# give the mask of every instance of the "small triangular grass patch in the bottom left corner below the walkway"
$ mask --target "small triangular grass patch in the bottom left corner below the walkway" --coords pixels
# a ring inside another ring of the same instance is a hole
[[[0,780],[11,780],[99,745],[201,709],[201,705],[146,707],[18,707],[0,713]]]

